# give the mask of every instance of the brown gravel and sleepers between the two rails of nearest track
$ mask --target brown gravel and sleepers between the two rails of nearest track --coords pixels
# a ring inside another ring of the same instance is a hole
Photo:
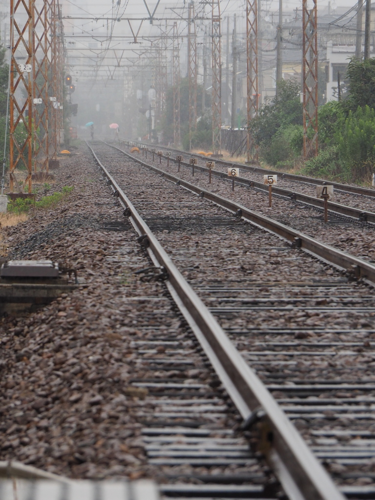
[[[373,497],[372,288],[295,247],[302,245],[280,243],[198,201],[181,182],[173,186],[143,173],[139,182],[134,163],[103,147],[95,145],[101,161],[115,165],[116,183],[109,182],[128,207],[125,214],[132,217],[133,207],[121,197],[121,185],[341,491]],[[255,421],[251,429],[269,418],[258,406],[247,415],[250,426]],[[285,486],[285,477],[280,480]]]

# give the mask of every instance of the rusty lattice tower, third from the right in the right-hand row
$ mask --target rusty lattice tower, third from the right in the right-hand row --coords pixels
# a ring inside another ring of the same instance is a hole
[[[212,149],[221,152],[221,33],[220,0],[212,0]]]

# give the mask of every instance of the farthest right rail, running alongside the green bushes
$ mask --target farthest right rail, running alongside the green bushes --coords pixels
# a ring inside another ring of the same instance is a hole
[[[134,142],[134,145],[139,146],[141,143]],[[144,144],[144,142],[142,142]],[[155,144],[148,144],[148,146],[154,147]],[[190,153],[188,151],[182,151],[180,149],[175,149],[175,148],[168,148],[168,146],[163,146],[159,144],[159,147],[164,147],[166,149],[171,149],[173,151],[177,151],[179,154],[189,154],[191,156],[198,156],[202,159],[207,159],[207,156],[203,156],[201,154],[197,153]],[[221,163],[224,166],[231,167],[233,166],[233,163],[230,161],[225,161],[220,158],[212,158],[214,161],[217,163]],[[315,184],[315,185],[332,185],[334,189],[337,189],[339,191],[346,191],[346,192],[351,192],[354,194],[363,194],[364,196],[373,196],[375,197],[375,189],[371,189],[370,187],[360,187],[360,186],[355,186],[355,185],[349,185],[349,184],[342,184],[341,182],[334,182],[334,181],[328,181],[324,179],[317,179],[315,177],[307,177],[304,175],[297,175],[295,173],[286,173],[286,172],[280,172],[279,170],[272,170],[268,168],[261,168],[260,166],[255,166],[255,165],[245,165],[244,163],[235,163],[236,167],[243,168],[244,170],[248,170],[250,172],[258,172],[258,173],[263,173],[264,175],[266,174],[273,174],[273,175],[279,175],[284,179],[289,179],[289,180],[296,180],[297,182],[304,182],[304,183],[309,183],[309,184]]]

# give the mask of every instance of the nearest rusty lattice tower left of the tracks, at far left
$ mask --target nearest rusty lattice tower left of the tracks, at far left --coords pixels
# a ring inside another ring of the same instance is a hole
[[[18,191],[27,185],[31,192],[32,173],[32,8],[31,0],[10,0],[10,132],[9,187]],[[15,178],[17,166],[26,167],[21,186]]]

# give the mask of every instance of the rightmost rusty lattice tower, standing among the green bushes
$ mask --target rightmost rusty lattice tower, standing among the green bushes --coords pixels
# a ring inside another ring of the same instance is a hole
[[[307,159],[316,156],[318,148],[316,0],[311,10],[303,0],[302,10],[303,157]]]

